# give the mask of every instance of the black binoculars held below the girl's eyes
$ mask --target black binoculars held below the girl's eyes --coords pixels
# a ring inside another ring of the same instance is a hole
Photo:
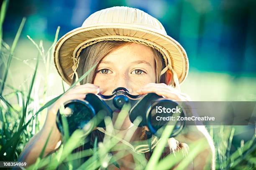
[[[184,117],[185,112],[177,102],[163,98],[156,93],[148,93],[146,95],[131,95],[124,87],[118,87],[113,90],[112,95],[95,95],[88,93],[84,100],[69,100],[64,103],[64,108],[68,114],[57,113],[56,124],[59,131],[63,134],[63,122],[61,116],[67,118],[69,135],[77,129],[83,129],[88,125],[99,112],[103,112],[104,116],[113,117],[113,112],[119,112],[122,107],[128,104],[131,106],[129,110],[129,118],[131,122],[140,116],[142,118],[138,127],[147,126],[152,134],[161,137],[164,126],[174,125],[170,138],[178,135],[185,122],[181,120],[168,119],[172,117],[174,111],[179,111],[179,116]],[[165,110],[164,110],[164,109]],[[166,112],[166,108],[169,112]],[[175,110],[176,109],[176,110]],[[102,119],[97,125],[90,126],[105,127]],[[87,129],[94,128],[89,127]]]

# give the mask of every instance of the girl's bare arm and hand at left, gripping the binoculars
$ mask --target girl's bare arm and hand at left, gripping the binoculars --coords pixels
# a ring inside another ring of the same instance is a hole
[[[36,135],[34,135],[31,140],[29,140],[22,153],[20,154],[18,160],[26,161],[27,165],[35,163],[46,143],[50,132],[51,136],[49,137],[49,141],[47,143],[43,157],[56,150],[61,144],[61,133],[59,132],[56,125],[56,115],[61,103],[64,103],[68,100],[84,99],[87,93],[97,94],[99,92],[101,92],[99,86],[87,83],[85,85],[73,87],[64,95],[62,95],[58,100],[56,100],[56,102],[54,102],[48,108],[48,113],[43,128]]]

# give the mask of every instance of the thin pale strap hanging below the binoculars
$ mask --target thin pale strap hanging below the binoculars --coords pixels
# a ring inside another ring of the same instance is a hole
[[[135,152],[137,154],[147,153],[147,152],[151,151],[153,148],[156,147],[157,143],[160,140],[160,139],[158,140],[156,138],[156,136],[153,136],[152,138],[154,138],[154,139],[151,139],[151,148],[149,148],[149,145],[138,145],[138,146],[134,147],[133,145],[131,145],[131,143],[127,142],[126,140],[123,140],[122,138],[119,138],[118,136],[113,135],[112,133],[107,132],[104,128],[97,128],[97,130],[100,130],[100,132],[105,133],[106,135],[109,135],[109,136],[121,141],[125,145],[129,146],[131,148],[131,150],[133,150],[133,152]]]

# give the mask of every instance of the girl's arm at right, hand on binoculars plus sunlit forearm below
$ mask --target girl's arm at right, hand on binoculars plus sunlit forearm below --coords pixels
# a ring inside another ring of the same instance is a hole
[[[170,98],[171,100],[176,101],[191,101],[190,97],[182,92],[179,92],[178,90],[174,89],[173,87],[170,87],[164,83],[149,83],[142,87],[141,89],[137,90],[137,92],[140,95],[144,95],[150,92],[154,92],[157,95]],[[147,127],[145,127],[146,130],[149,130]],[[185,130],[187,129],[187,130]],[[186,143],[181,143],[183,146],[182,148],[185,148],[185,150],[188,150],[189,145],[191,143],[196,142],[199,139],[206,139],[207,140],[207,148],[203,150],[201,153],[197,155],[196,158],[194,158],[194,168],[195,169],[203,169],[207,163],[209,163],[207,160],[208,156],[210,156],[210,164],[211,169],[215,169],[215,149],[214,149],[214,143],[212,141],[212,138],[210,137],[209,133],[207,132],[205,126],[203,125],[189,125],[185,126],[184,131],[186,133],[182,133],[174,138],[169,138],[168,143],[171,151],[176,149],[175,141],[176,139],[178,141],[184,141]]]

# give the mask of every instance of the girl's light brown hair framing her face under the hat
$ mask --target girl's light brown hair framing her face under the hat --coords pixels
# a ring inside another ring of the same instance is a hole
[[[100,61],[105,56],[107,56],[110,52],[117,50],[118,48],[123,47],[125,45],[129,45],[131,43],[133,42],[106,40],[106,41],[97,42],[93,45],[90,45],[84,48],[81,51],[79,56],[79,65],[77,67],[78,77],[81,77],[87,70],[93,67],[96,63],[99,64]],[[158,50],[152,47],[150,48],[155,55],[156,83],[161,83],[161,82],[166,83],[165,74],[163,76],[160,76],[161,70],[165,66],[163,56]],[[97,66],[82,80],[82,82],[80,82],[81,84],[86,84],[86,83],[93,84]]]

